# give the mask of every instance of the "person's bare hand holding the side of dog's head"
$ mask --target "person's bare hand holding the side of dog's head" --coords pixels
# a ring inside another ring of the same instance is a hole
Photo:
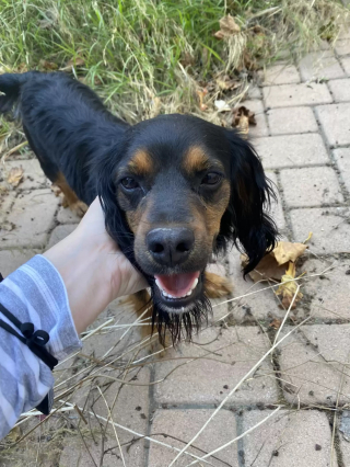
[[[77,229],[44,257],[56,266],[65,282],[78,333],[115,298],[148,286],[106,232],[98,198]]]

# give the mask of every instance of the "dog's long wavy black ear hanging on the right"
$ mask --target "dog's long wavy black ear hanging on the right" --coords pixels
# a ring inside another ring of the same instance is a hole
[[[252,271],[277,241],[277,227],[267,209],[276,200],[253,146],[236,132],[225,130],[229,140],[231,197],[221,223],[221,238],[233,240],[248,257],[244,274]]]

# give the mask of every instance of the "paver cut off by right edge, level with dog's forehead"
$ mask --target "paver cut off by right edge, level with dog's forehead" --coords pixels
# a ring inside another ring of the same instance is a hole
[[[330,146],[350,144],[350,103],[317,106],[316,112]]]

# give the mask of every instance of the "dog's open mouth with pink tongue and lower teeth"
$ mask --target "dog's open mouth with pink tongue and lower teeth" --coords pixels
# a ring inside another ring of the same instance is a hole
[[[201,288],[200,272],[155,275],[155,285],[161,298],[172,308],[188,306]]]

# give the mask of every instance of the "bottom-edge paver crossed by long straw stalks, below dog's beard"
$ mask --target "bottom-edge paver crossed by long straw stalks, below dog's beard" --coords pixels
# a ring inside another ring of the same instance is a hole
[[[152,423],[152,433],[166,433],[167,436],[154,435],[154,440],[183,448],[194,435],[202,428],[210,418],[213,410],[158,410]],[[174,436],[174,437],[173,437]],[[198,436],[189,453],[196,456],[205,456],[236,436],[236,421],[232,412],[221,410],[209,424],[209,430]],[[149,465],[152,467],[164,467],[171,464],[177,452],[151,443]],[[183,455],[174,465],[176,467],[187,466],[194,460],[189,455]],[[237,445],[231,444],[226,448],[207,457],[207,462],[215,467],[238,467]],[[222,462],[223,460],[223,462]],[[200,465],[200,464],[198,464]],[[205,463],[202,465],[206,465]]]

